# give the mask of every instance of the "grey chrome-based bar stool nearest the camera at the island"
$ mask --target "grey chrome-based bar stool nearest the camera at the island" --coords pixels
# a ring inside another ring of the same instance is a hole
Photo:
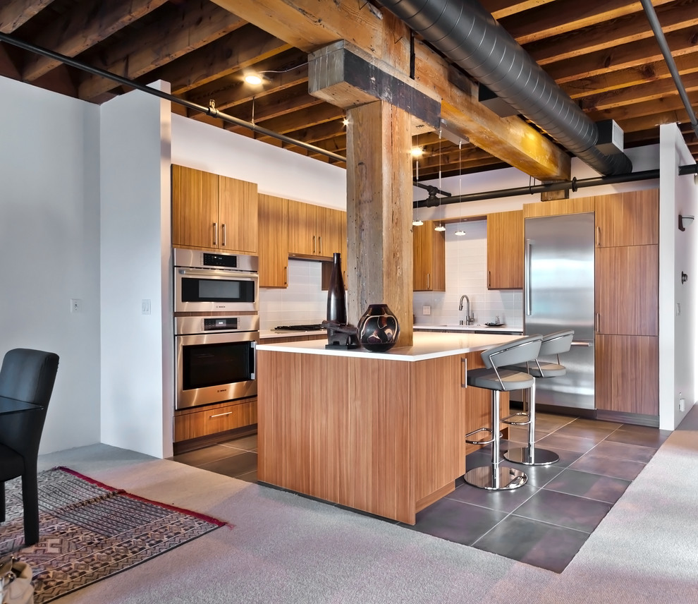
[[[484,368],[467,372],[467,385],[492,391],[492,427],[478,428],[465,435],[465,442],[470,445],[491,445],[492,460],[489,466],[474,468],[465,473],[463,479],[469,485],[487,490],[506,490],[521,487],[528,480],[528,476],[522,471],[499,464],[499,393],[533,386],[533,377],[508,366],[533,361],[539,354],[541,338],[541,335],[522,337],[486,350],[481,355]],[[468,437],[478,432],[488,432],[491,438],[468,440]]]

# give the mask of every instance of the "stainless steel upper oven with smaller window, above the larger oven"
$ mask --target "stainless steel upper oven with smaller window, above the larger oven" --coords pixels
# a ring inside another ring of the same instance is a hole
[[[257,256],[174,250],[175,313],[259,310]]]

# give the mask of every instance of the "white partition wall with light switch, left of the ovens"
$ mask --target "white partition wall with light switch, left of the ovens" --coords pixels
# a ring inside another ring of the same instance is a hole
[[[154,457],[172,454],[170,115],[136,90],[101,116],[102,442]]]

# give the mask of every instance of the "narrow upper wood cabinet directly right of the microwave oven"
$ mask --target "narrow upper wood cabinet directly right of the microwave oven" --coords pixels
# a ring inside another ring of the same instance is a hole
[[[259,194],[259,286],[288,286],[288,199]]]

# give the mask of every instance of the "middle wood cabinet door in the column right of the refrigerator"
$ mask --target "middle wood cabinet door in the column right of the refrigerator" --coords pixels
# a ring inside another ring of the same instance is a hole
[[[596,248],[595,278],[597,333],[659,334],[659,246]]]

